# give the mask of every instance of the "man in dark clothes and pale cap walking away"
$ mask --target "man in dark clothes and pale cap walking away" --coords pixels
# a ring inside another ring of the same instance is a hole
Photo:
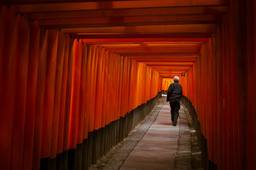
[[[170,101],[172,123],[173,126],[176,126],[179,117],[180,98],[182,97],[182,86],[179,84],[178,76],[175,76],[173,81],[174,82],[170,84],[168,88],[166,101]]]

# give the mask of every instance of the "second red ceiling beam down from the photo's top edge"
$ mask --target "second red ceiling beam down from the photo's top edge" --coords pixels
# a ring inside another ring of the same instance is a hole
[[[128,16],[161,16],[161,15],[201,15],[224,14],[227,6],[184,6],[168,8],[129,8],[111,10],[79,10],[68,12],[36,12],[29,13],[30,19],[73,19],[95,17],[128,17]]]

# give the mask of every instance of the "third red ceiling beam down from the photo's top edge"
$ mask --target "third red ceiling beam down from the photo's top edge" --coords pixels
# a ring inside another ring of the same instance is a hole
[[[216,24],[220,15],[161,15],[141,17],[97,17],[76,19],[40,19],[38,24],[47,28],[155,26],[170,24]]]

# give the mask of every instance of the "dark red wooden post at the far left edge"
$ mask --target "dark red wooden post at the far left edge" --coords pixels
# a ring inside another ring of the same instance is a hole
[[[11,167],[12,119],[15,89],[15,63],[13,51],[13,32],[15,28],[14,8],[1,8],[1,46],[0,46],[0,167]],[[9,65],[7,63],[10,63]]]

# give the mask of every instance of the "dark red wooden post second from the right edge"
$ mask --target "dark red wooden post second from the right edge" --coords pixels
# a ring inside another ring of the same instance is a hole
[[[230,56],[231,56],[231,83],[232,83],[232,160],[234,160],[234,169],[243,169],[242,163],[246,162],[246,148],[244,139],[246,135],[242,129],[246,128],[246,94],[244,93],[244,82],[246,77],[246,27],[240,27],[246,24],[246,3],[242,1],[232,1],[230,3]],[[241,100],[243,99],[243,100]]]

